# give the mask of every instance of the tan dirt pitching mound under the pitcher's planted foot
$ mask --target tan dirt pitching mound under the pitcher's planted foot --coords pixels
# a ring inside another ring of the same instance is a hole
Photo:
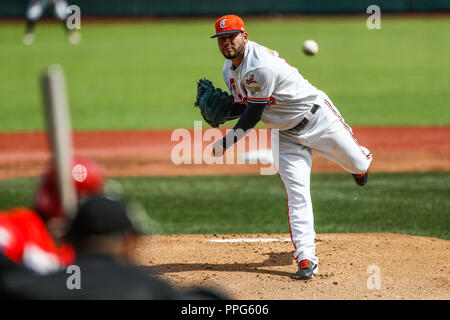
[[[319,234],[319,273],[294,280],[289,234],[142,237],[136,261],[181,286],[232,299],[450,299],[450,241],[397,234]]]

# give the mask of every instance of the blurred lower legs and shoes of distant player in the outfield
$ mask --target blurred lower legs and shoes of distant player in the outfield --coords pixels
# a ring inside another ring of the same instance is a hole
[[[26,12],[26,28],[25,35],[23,37],[23,43],[25,45],[31,45],[34,42],[34,29],[36,23],[41,19],[45,10],[53,6],[56,17],[61,21],[64,30],[67,34],[67,39],[71,44],[78,44],[81,40],[81,34],[75,30],[69,30],[67,28],[67,2],[65,0],[30,0],[30,3]]]

